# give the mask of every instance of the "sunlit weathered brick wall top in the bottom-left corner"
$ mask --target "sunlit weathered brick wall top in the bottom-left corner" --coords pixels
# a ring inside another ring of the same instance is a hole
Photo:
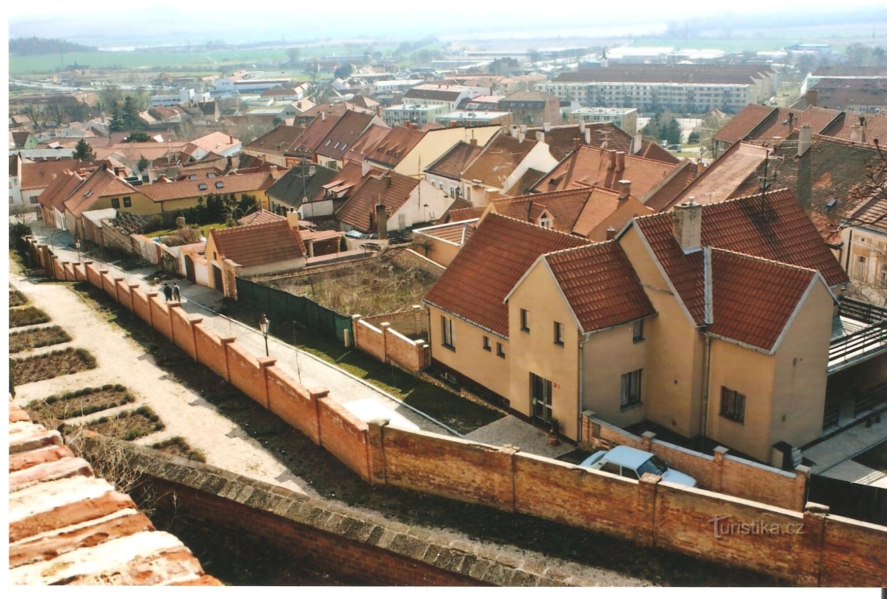
[[[182,541],[156,530],[128,494],[95,478],[59,432],[32,423],[14,405],[7,522],[7,584],[221,585]]]

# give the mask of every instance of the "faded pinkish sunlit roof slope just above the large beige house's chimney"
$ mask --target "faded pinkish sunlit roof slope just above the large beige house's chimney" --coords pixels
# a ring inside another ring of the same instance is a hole
[[[665,207],[685,202],[691,196],[697,204],[712,204],[734,197],[742,183],[764,163],[767,152],[763,145],[749,142],[731,145],[729,150],[718,156],[702,175],[696,177],[693,183]]]

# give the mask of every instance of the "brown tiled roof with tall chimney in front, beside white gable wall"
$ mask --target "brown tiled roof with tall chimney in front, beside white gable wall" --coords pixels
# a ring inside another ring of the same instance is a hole
[[[383,204],[390,218],[404,206],[419,179],[386,171],[382,175],[366,175],[351,197],[336,212],[335,217],[355,229],[369,232],[373,229],[375,206]]]

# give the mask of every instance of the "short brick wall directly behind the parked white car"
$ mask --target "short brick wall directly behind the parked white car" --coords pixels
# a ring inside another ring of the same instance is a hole
[[[693,477],[703,489],[735,495],[789,510],[803,510],[810,469],[798,466],[794,472],[781,471],[764,464],[728,455],[725,447],[714,455],[704,455],[685,447],[656,440],[652,432],[642,437],[593,417],[582,415],[580,447],[590,450],[627,445],[660,457],[671,468]]]

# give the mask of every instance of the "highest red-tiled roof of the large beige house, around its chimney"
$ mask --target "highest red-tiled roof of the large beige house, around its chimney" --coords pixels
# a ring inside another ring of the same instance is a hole
[[[799,267],[814,268],[828,285],[847,275],[788,190],[703,205],[702,244]],[[673,232],[672,212],[634,219],[655,258],[697,325],[705,323],[703,251],[684,253]]]

